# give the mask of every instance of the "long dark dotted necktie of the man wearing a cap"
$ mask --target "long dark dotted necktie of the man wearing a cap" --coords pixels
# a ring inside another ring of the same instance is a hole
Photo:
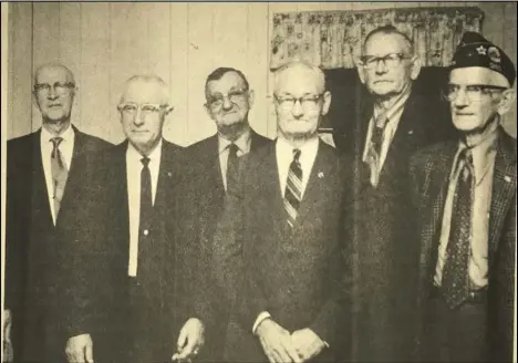
[[[469,149],[459,154],[457,168],[459,173],[452,206],[452,228],[442,281],[444,298],[452,309],[462,304],[469,293],[468,263],[474,188],[473,156]]]

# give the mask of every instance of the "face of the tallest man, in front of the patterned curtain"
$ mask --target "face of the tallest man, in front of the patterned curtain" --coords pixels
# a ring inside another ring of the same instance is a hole
[[[359,65],[360,80],[367,90],[377,96],[396,96],[415,80],[421,68],[416,58],[412,58],[410,44],[398,34],[376,33],[372,35],[363,49],[363,58],[385,58],[390,54],[395,60],[371,63],[366,69]]]

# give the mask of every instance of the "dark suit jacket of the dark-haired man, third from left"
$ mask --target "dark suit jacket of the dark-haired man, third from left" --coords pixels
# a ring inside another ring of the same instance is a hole
[[[269,143],[271,143],[271,139],[251,131],[250,153],[257,152]],[[221,217],[225,200],[225,186],[218,154],[218,135],[213,135],[190,145],[186,153],[190,166],[190,179],[196,184],[195,190],[200,198],[196,212],[199,218],[200,229],[198,232],[203,243],[200,258],[203,265],[208,266],[214,250],[214,232]],[[211,362],[221,361],[231,304],[225,300],[225,294],[218,291],[214,283],[207,282],[207,279],[211,276],[210,271],[200,270],[199,274],[200,280],[206,281],[206,289],[213,307],[213,319],[206,329],[206,344],[200,359]]]

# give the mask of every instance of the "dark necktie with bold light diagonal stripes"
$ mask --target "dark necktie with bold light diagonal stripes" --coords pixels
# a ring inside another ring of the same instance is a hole
[[[284,209],[288,212],[288,225],[294,226],[300,201],[302,200],[302,168],[300,167],[300,149],[293,149],[293,160],[290,164],[284,190]]]

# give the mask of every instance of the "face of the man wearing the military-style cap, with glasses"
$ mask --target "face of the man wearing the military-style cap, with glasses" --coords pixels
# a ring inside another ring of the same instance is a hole
[[[449,74],[448,89],[454,92],[449,104],[454,126],[466,133],[486,128],[497,113],[507,108],[505,82],[495,72],[478,66],[454,69]]]

